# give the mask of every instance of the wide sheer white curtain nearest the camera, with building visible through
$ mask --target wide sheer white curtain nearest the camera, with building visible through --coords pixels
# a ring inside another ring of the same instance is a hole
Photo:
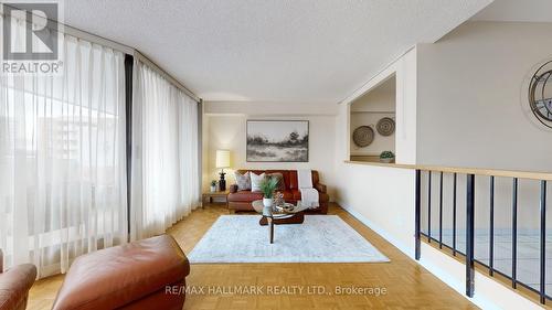
[[[39,277],[127,240],[124,54],[63,54],[61,76],[0,77],[0,247]]]

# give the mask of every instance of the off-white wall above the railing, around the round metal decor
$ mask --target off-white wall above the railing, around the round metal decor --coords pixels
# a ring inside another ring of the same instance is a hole
[[[527,115],[524,82],[552,60],[552,23],[468,22],[418,50],[417,160],[552,171],[552,131]]]

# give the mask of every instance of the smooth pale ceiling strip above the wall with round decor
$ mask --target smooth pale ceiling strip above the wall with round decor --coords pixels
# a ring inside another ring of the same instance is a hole
[[[495,0],[477,13],[476,21],[552,22],[551,0]]]

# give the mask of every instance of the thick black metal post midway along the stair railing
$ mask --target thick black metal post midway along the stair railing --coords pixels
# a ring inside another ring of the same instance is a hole
[[[466,179],[466,295],[474,297],[474,228],[476,175]]]

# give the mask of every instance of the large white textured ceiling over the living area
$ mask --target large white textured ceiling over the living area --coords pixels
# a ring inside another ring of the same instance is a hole
[[[206,100],[337,103],[491,0],[68,0],[65,23],[134,46]]]

